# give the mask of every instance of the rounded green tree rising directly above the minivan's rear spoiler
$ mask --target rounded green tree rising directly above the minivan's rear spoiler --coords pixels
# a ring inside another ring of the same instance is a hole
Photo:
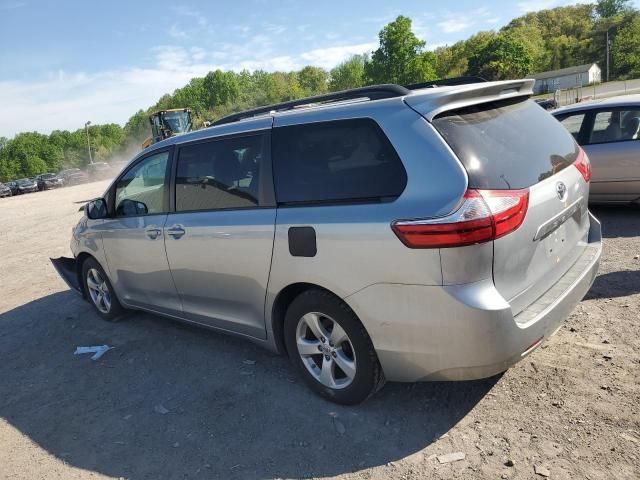
[[[531,71],[526,46],[508,35],[498,35],[469,58],[469,73],[487,80],[521,78]]]

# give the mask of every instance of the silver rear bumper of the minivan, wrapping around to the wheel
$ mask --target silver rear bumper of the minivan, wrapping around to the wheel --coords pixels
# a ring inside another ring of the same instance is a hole
[[[553,335],[591,287],[602,239],[600,223],[591,214],[590,220],[581,257],[517,316],[491,279],[444,287],[376,284],[345,300],[367,328],[389,380],[490,377]]]

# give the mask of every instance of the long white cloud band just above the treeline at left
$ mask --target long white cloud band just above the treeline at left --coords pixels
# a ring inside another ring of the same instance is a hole
[[[94,124],[124,124],[139,109],[153,105],[165,93],[215,69],[241,71],[297,70],[305,65],[332,68],[347,57],[372,50],[375,43],[318,48],[295,55],[277,55],[269,38],[256,35],[242,45],[201,47],[161,46],[152,49],[149,68],[122,68],[97,73],[50,73],[33,81],[0,81],[0,136],[52,129],[75,130]]]

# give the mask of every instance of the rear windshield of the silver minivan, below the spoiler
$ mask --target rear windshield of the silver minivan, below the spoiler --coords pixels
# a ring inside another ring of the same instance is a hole
[[[464,164],[471,188],[526,188],[567,168],[578,156],[571,134],[530,100],[446,112],[433,125]]]

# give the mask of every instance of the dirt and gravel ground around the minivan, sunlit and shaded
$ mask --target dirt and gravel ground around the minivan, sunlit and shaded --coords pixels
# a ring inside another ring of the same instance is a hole
[[[0,199],[0,478],[640,478],[640,210],[594,209],[592,290],[504,375],[339,407],[250,343],[92,313],[48,259],[104,187]]]

